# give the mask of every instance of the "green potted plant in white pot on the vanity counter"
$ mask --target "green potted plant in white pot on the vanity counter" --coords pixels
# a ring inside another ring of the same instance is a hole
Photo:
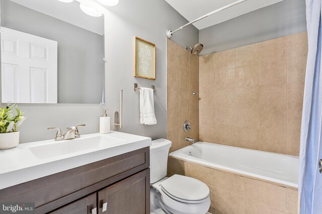
[[[19,144],[18,128],[26,119],[23,114],[16,104],[0,108],[0,149],[15,148]]]

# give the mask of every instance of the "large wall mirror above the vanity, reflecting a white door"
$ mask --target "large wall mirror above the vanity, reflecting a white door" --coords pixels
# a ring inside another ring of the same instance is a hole
[[[104,102],[103,16],[73,0],[0,3],[3,103]]]

